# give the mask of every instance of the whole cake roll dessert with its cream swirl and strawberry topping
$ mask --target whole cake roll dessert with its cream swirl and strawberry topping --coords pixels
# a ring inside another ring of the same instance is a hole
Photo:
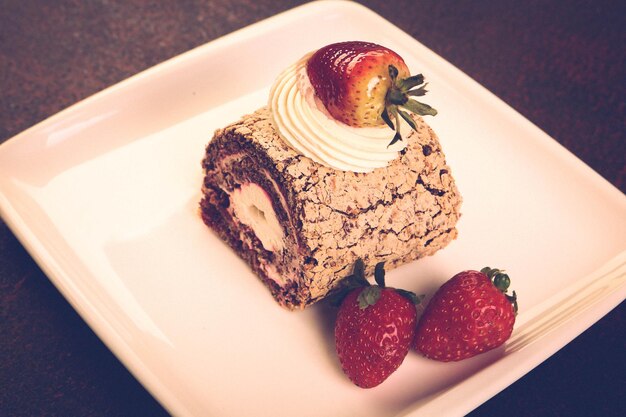
[[[395,52],[327,45],[279,75],[269,103],[218,129],[202,161],[203,221],[289,309],[368,273],[434,254],[457,236],[461,196]]]

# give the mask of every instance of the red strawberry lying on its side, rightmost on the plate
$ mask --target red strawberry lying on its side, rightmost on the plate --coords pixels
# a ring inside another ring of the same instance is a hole
[[[503,271],[463,271],[443,284],[417,325],[415,349],[439,361],[470,358],[502,345],[513,331],[517,296]]]

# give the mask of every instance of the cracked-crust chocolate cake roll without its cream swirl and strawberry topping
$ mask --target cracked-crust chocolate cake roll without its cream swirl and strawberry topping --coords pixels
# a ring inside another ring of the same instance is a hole
[[[262,108],[208,144],[202,219],[289,309],[326,296],[358,258],[370,273],[431,255],[456,237],[461,197],[437,136],[415,121],[388,167],[354,173],[288,147]]]

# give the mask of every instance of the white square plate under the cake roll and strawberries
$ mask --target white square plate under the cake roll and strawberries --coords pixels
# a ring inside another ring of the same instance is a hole
[[[371,28],[375,27],[376,31]],[[204,226],[214,129],[274,77],[339,40],[396,50],[429,81],[429,118],[464,196],[459,238],[388,274],[432,293],[506,268],[520,300],[503,348],[443,364],[410,353],[381,386],[341,373],[333,312],[290,313]],[[78,103],[0,147],[0,212],[107,346],[180,416],[467,413],[624,299],[626,198],[537,127],[357,4],[307,4]]]

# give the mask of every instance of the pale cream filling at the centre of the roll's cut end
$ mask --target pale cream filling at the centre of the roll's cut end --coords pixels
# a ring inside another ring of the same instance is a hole
[[[249,226],[268,251],[280,251],[285,247],[283,228],[276,217],[269,196],[259,185],[243,184],[230,195],[235,215]]]

